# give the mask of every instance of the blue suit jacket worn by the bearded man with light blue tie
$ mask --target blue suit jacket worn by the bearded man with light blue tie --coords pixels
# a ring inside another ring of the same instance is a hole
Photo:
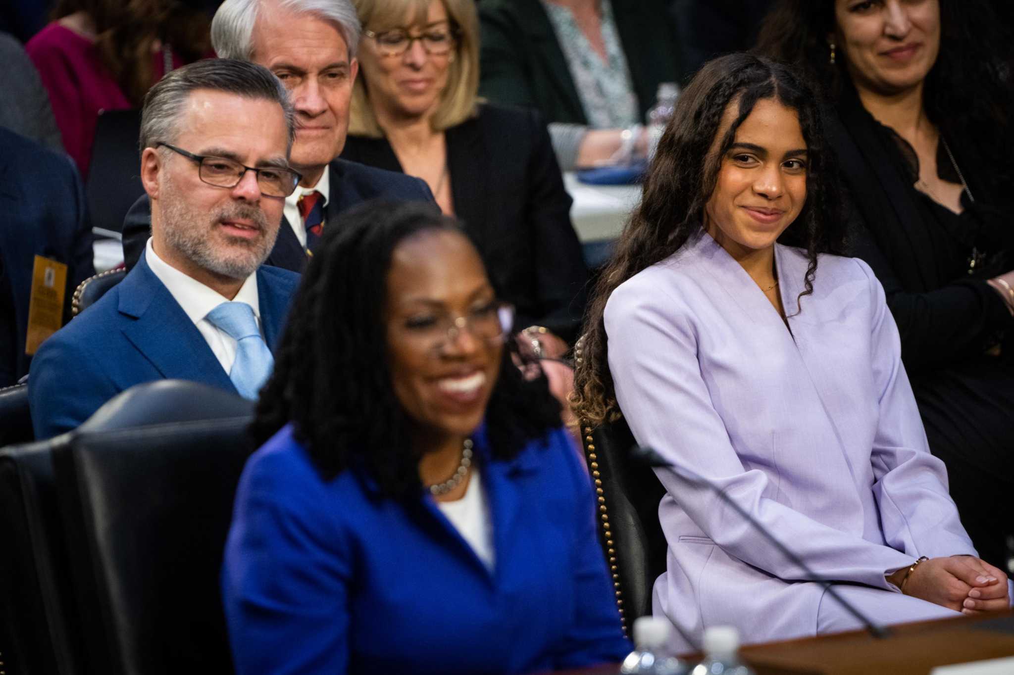
[[[299,276],[262,266],[257,281],[265,340],[274,352]],[[40,348],[28,378],[35,437],[70,431],[121,391],[166,378],[236,390],[142,256],[120,284]]]

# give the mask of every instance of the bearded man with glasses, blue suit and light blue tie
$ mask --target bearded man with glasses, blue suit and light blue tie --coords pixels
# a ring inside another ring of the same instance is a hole
[[[298,282],[264,265],[300,179],[294,136],[285,88],[261,66],[199,61],[151,88],[140,142],[151,237],[123,282],[40,348],[28,380],[38,438],[151,380],[257,397]]]

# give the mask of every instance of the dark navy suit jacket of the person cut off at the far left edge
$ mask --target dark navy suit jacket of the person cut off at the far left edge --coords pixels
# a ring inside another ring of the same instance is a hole
[[[34,256],[68,266],[74,289],[95,274],[84,192],[69,157],[0,129],[0,387],[28,372],[24,354]]]

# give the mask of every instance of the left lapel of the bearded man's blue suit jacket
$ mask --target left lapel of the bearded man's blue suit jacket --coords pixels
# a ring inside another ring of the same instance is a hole
[[[236,390],[201,331],[143,254],[119,291],[120,313],[134,319],[123,328],[124,335],[163,377]]]

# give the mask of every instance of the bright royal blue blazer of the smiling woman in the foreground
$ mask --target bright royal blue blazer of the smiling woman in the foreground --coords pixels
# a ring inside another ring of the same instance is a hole
[[[428,494],[324,481],[285,427],[246,463],[222,595],[236,672],[530,673],[619,662],[623,635],[586,470],[560,429],[478,465],[491,573]]]

